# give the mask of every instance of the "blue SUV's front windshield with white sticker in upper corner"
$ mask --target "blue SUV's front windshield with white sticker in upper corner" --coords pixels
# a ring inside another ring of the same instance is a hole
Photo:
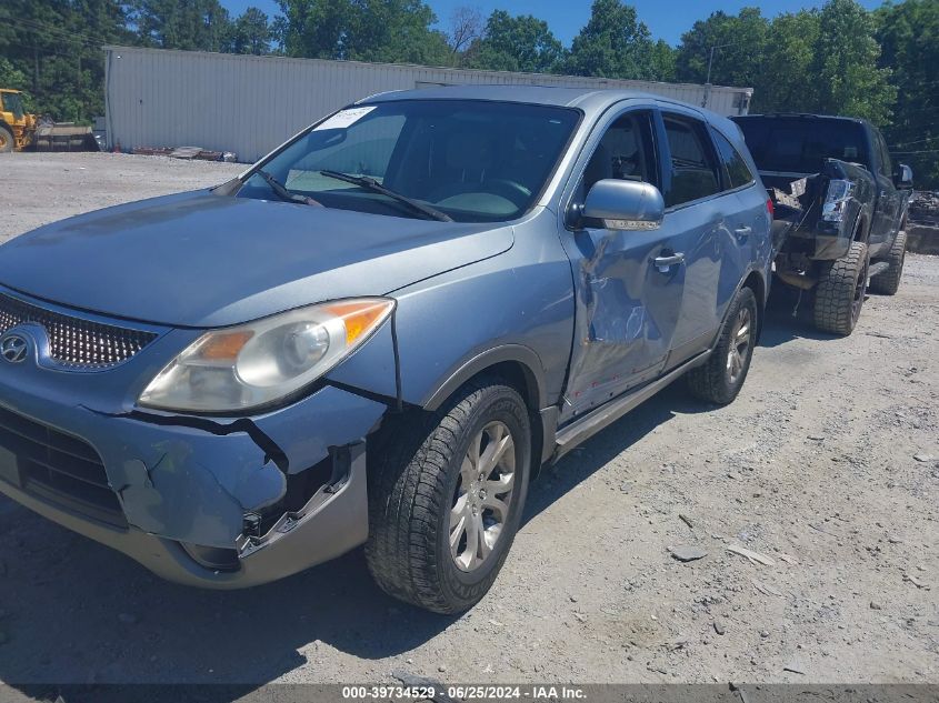
[[[261,168],[289,191],[328,208],[419,217],[402,199],[328,175],[368,177],[458,222],[512,220],[545,187],[580,113],[567,108],[469,100],[402,100],[338,112]],[[269,200],[249,178],[239,198]]]

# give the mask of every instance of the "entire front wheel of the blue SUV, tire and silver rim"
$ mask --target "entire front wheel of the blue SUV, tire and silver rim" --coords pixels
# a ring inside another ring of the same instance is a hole
[[[440,411],[392,418],[369,466],[366,560],[383,591],[437,613],[475,605],[521,521],[532,461],[528,410],[497,379]]]

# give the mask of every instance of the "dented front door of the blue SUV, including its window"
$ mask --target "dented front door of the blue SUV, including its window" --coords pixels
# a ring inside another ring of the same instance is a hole
[[[681,310],[685,268],[677,232],[610,230],[578,217],[601,179],[659,185],[653,104],[618,111],[598,124],[575,167],[562,202],[565,249],[577,295],[575,340],[560,421],[578,416],[657,378]]]

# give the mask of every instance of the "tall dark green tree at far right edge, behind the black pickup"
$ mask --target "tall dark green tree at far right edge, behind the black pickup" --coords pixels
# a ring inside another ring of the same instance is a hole
[[[912,167],[918,188],[939,189],[939,2],[886,4],[875,18],[880,66],[897,86],[887,142]]]

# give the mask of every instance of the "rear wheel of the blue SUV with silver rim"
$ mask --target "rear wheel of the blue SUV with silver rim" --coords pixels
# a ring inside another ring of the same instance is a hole
[[[743,315],[747,322],[742,321]],[[740,325],[747,325],[747,344],[741,351],[738,333]],[[692,395],[703,401],[727,405],[732,402],[743,381],[747,380],[747,372],[750,370],[750,360],[753,358],[753,347],[757,342],[757,330],[759,329],[759,305],[757,297],[749,288],[741,288],[730,303],[727,318],[718,338],[717,347],[708,361],[688,372],[688,390]],[[733,359],[733,350],[737,350],[739,359]],[[739,368],[735,365],[739,363]],[[731,372],[736,370],[736,372]]]

